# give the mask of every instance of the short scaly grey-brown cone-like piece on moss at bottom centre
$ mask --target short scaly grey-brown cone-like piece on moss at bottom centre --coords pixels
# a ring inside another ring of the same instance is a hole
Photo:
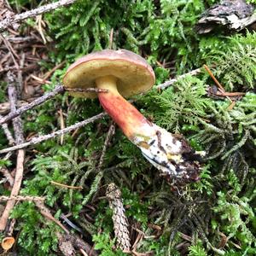
[[[125,217],[121,191],[114,183],[110,183],[106,195],[108,197],[109,207],[113,210],[113,230],[117,239],[117,246],[123,251],[130,251],[129,224]]]

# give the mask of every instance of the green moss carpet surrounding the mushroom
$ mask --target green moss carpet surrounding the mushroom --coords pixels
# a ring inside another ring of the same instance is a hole
[[[111,122],[108,117],[80,128],[76,134],[65,135],[63,144],[55,138],[36,146],[36,153],[28,150],[30,160],[20,195],[45,196],[55,218],[72,213],[73,223],[83,230],[84,237],[91,237],[102,256],[125,255],[113,249],[111,211],[102,198],[108,183],[122,189],[129,222],[145,235],[137,243],[137,252],[256,254],[256,32],[196,35],[193,27],[199,16],[216,2],[79,0],[44,15],[47,36],[55,49],[49,52],[50,63],[43,61],[42,65],[50,68],[67,61],[65,68],[55,71],[52,84],[44,85],[45,91],[61,81],[79,56],[108,48],[113,28],[113,49],[131,49],[146,57],[158,84],[207,63],[225,90],[246,93],[230,109],[229,99],[207,94],[213,81],[203,72],[178,79],[161,92],[153,89],[136,97],[134,104],[149,119],[168,131],[182,133],[196,150],[207,152],[201,180],[178,190],[170,188],[119,129],[98,170]],[[26,1],[15,3],[28,5]],[[58,109],[67,113],[66,125],[102,111],[97,100],[57,96],[24,115],[25,132],[47,134],[60,127]],[[4,148],[7,142],[0,132],[0,146]],[[1,160],[0,164],[11,163]],[[60,188],[50,181],[84,189]],[[2,184],[0,191],[8,193]],[[84,217],[86,205],[95,207],[89,213],[93,221]],[[19,255],[56,255],[57,238],[52,230],[59,228],[45,223],[32,202],[20,202],[12,217],[17,218],[15,229],[20,230]],[[160,232],[152,224],[160,226]],[[178,245],[186,241],[184,236],[190,240],[181,252]]]

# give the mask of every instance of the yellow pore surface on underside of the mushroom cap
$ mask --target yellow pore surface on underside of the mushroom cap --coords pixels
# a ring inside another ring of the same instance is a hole
[[[154,85],[154,75],[143,65],[124,60],[90,60],[79,63],[68,71],[63,79],[67,88],[93,88],[96,79],[113,75],[122,96],[129,97],[149,90]],[[79,97],[96,98],[95,92],[72,92]]]

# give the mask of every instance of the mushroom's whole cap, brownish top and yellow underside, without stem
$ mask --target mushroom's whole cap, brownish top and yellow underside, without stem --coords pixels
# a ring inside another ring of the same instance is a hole
[[[122,96],[132,96],[149,90],[154,85],[154,71],[140,55],[126,49],[104,49],[75,61],[64,76],[67,88],[96,87],[96,79],[108,75],[117,78],[117,89]],[[71,93],[73,96],[95,98],[94,92]]]

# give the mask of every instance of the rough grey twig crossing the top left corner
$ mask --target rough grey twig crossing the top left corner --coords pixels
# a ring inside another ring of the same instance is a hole
[[[42,14],[49,12],[53,9],[57,9],[62,6],[74,3],[75,1],[76,0],[61,0],[61,1],[55,2],[55,3],[45,4],[43,6],[40,6],[37,9],[32,9],[30,11],[26,11],[20,15],[14,15],[12,17],[6,18],[2,22],[0,22],[0,32],[3,32],[3,30],[6,29],[8,26],[12,25],[12,23],[17,23],[22,20],[26,20],[27,18],[32,18],[37,15],[42,15]]]

